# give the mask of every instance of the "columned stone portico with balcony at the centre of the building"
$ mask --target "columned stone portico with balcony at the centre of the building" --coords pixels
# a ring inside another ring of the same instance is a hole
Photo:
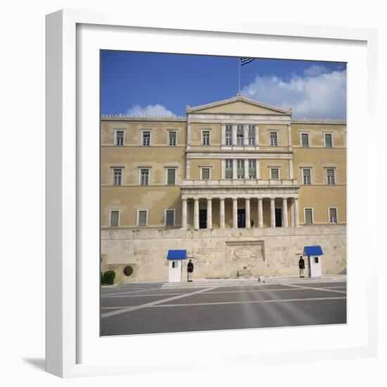
[[[184,180],[182,229],[298,227],[296,181],[247,182]]]

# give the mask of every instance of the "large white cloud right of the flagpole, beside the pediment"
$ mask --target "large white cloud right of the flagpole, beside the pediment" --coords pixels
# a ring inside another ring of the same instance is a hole
[[[303,77],[294,75],[287,82],[275,75],[257,75],[242,93],[255,101],[293,108],[293,117],[345,118],[346,72],[325,70],[311,66]]]

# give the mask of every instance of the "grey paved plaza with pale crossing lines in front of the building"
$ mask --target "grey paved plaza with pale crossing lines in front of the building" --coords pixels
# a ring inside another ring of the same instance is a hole
[[[345,324],[346,281],[173,285],[101,289],[101,336]]]

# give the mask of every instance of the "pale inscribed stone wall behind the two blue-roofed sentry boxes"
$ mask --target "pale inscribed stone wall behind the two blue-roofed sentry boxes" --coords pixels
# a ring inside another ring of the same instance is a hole
[[[322,246],[323,274],[346,270],[345,225],[267,229],[103,230],[101,270],[113,269],[116,283],[168,281],[168,250],[187,250],[196,278],[298,275],[304,246]],[[307,260],[305,260],[307,263]],[[186,261],[183,264],[185,279]],[[124,268],[131,266],[127,276]],[[305,268],[307,276],[308,267]]]

